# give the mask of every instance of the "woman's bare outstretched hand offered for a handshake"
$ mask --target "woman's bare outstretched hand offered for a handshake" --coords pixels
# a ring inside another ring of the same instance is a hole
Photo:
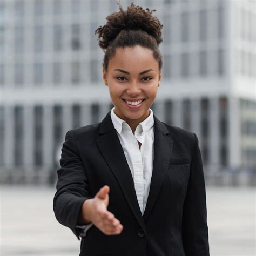
[[[107,235],[120,234],[123,225],[107,210],[109,205],[110,187],[105,185],[92,199],[87,199],[82,207],[82,218],[92,222],[100,231]]]

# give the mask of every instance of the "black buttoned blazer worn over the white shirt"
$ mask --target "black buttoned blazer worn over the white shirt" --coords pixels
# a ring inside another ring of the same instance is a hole
[[[84,200],[110,186],[109,206],[124,229],[105,235],[93,225],[80,256],[207,256],[206,193],[195,133],[154,116],[154,161],[144,215],[110,112],[101,123],[68,131],[62,147],[53,208],[57,220],[79,239]]]

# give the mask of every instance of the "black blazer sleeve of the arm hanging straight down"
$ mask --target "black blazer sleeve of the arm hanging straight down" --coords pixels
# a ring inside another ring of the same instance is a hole
[[[186,256],[208,256],[205,180],[198,137],[193,134],[193,157],[183,206],[183,246]]]

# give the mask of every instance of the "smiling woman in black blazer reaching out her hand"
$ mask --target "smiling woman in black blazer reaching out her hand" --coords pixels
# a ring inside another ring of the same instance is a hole
[[[96,30],[114,107],[66,133],[53,203],[80,255],[209,255],[198,138],[150,109],[163,63],[153,11],[119,6]]]

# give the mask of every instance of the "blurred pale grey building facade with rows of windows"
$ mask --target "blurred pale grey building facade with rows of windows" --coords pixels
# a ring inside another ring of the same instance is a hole
[[[126,8],[131,1],[120,1]],[[255,2],[137,0],[164,24],[152,109],[197,133],[207,174],[256,169]],[[68,130],[111,109],[95,30],[115,0],[0,2],[0,174],[51,181]]]

